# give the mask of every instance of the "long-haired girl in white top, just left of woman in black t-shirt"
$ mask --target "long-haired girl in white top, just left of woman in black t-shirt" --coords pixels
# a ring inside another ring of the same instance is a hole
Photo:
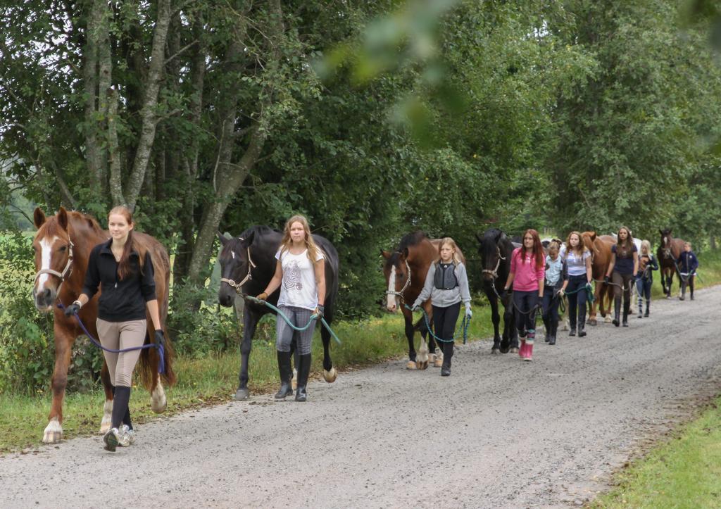
[[[590,266],[591,256],[578,231],[568,234],[566,245],[567,276],[563,282],[561,293],[571,292],[571,295],[568,296],[568,322],[571,328],[568,335],[576,335],[578,317],[578,335],[583,337],[585,336],[586,298],[590,291],[590,281],[593,279]]]

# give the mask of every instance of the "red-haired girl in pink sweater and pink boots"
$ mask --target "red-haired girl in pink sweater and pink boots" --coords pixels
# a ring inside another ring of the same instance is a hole
[[[510,258],[510,273],[505,282],[505,291],[513,285],[513,312],[516,314],[516,328],[521,338],[523,360],[533,360],[536,337],[536,308],[543,298],[545,257],[539,232],[526,230],[523,246],[513,250]]]

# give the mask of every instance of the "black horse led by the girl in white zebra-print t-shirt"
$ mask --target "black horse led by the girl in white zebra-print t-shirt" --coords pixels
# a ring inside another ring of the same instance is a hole
[[[261,293],[270,283],[275,274],[275,253],[278,252],[283,234],[267,226],[251,226],[239,237],[226,239],[221,234],[218,238],[223,244],[218,261],[221,264],[221,288],[218,291],[218,302],[221,306],[232,306],[238,292],[250,296]],[[324,318],[328,324],[333,321],[333,313],[338,296],[338,253],[327,239],[314,235],[314,241],[325,254],[325,301]],[[237,291],[236,291],[237,290]],[[280,289],[267,298],[274,306],[278,304]],[[266,313],[274,313],[265,305],[245,301],[243,309],[243,341],[240,345],[239,386],[235,399],[248,399],[248,358],[251,341],[255,334],[258,320]],[[321,327],[323,340],[323,377],[327,382],[335,381],[337,372],[330,359],[330,332]]]

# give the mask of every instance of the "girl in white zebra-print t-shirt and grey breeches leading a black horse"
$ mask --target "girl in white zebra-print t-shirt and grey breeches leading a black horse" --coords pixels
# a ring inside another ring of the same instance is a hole
[[[275,253],[275,275],[263,293],[264,300],[280,286],[278,309],[296,327],[304,327],[312,314],[323,315],[325,299],[324,254],[313,241],[308,220],[293,216],[286,222],[280,249]],[[314,326],[304,331],[293,330],[285,320],[278,317],[275,326],[278,350],[280,390],[275,399],[286,399],[293,394],[291,386],[291,341],[296,338],[298,348],[298,389],[296,401],[306,401],[306,384],[311,369],[311,340]]]

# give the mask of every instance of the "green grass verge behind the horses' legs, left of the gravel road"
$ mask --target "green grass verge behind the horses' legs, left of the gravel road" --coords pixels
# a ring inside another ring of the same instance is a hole
[[[417,316],[417,315],[416,315]],[[459,325],[460,325],[459,320]],[[273,322],[260,327],[274,328]],[[331,357],[339,371],[361,368],[381,360],[407,356],[407,341],[403,320],[399,314],[361,322],[342,322],[333,329],[342,345],[332,342]],[[259,330],[258,337],[268,337]],[[492,336],[490,307],[474,305],[474,318],[469,327],[469,340]],[[416,348],[420,335],[416,334]],[[322,343],[319,333],[313,342],[313,376],[322,377]],[[238,386],[240,354],[223,353],[207,358],[175,360],[178,376],[176,386],[167,389],[168,410],[172,415],[194,407],[227,402]],[[342,376],[342,374],[340,374]],[[251,394],[274,391],[278,385],[278,365],[275,344],[254,340],[249,361],[249,389]],[[40,446],[43,429],[50,412],[50,393],[35,396],[0,394],[0,453]],[[66,394],[63,405],[63,438],[88,436],[97,433],[102,418],[105,395],[100,386],[89,393]],[[135,422],[147,422],[157,415],[150,408],[150,397],[145,389],[133,391],[131,412]]]

